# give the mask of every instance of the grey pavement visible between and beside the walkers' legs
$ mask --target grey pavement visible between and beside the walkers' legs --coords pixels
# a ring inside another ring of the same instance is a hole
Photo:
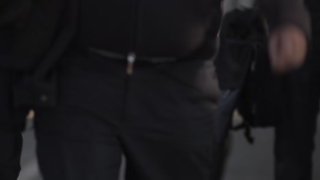
[[[320,131],[320,117],[318,118],[318,131]],[[250,145],[245,140],[243,132],[232,133],[232,148],[223,180],[273,179],[272,141],[274,132],[272,129],[261,129],[254,130],[253,134],[256,142],[254,145]],[[35,157],[36,141],[34,140],[34,132],[28,130],[23,136],[22,170],[18,180],[42,180]],[[315,180],[320,179],[320,132],[317,133],[316,142],[318,148],[313,158],[313,177]],[[121,171],[120,180],[123,180],[123,166]]]

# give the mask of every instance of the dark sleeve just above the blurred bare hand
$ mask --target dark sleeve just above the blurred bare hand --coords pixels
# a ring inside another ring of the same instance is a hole
[[[310,15],[305,0],[258,0],[258,3],[267,18],[270,31],[285,24],[293,24],[300,27],[310,39]]]

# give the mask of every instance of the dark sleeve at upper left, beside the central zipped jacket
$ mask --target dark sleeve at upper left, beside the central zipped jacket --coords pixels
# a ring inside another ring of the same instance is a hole
[[[60,28],[64,3],[69,0],[32,1],[29,18],[20,23],[23,26],[16,30],[13,40],[14,53],[24,57],[38,57],[50,48]]]

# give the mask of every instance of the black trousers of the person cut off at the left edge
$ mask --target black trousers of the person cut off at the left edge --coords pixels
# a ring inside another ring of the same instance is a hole
[[[27,110],[12,106],[12,85],[18,76],[0,68],[0,179],[15,180],[21,170],[23,124]]]

